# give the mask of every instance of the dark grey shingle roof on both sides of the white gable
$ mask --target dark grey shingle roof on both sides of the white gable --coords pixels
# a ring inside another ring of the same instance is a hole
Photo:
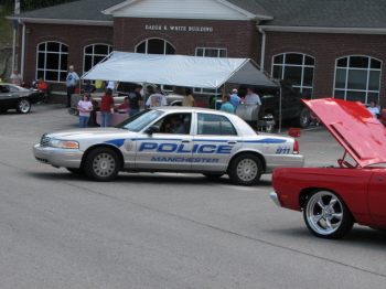
[[[380,0],[217,0],[228,2],[253,14],[266,15],[259,24],[265,26],[292,28],[386,28],[386,1]],[[12,15],[9,19],[61,21],[108,21],[111,14],[101,11],[117,6],[122,0],[78,0],[55,7]]]

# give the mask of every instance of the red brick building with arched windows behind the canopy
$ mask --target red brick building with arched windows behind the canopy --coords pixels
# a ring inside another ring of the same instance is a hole
[[[385,14],[378,0],[79,0],[9,19],[24,79],[54,90],[116,50],[249,57],[313,98],[385,106]]]

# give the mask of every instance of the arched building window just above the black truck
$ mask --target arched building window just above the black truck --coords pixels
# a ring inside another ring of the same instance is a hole
[[[285,79],[301,93],[312,95],[315,58],[300,53],[274,56],[272,77]]]

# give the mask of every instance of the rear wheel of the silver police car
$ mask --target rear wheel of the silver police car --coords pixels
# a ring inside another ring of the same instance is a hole
[[[256,184],[260,180],[261,173],[261,162],[251,153],[235,157],[228,169],[230,181],[240,185]]]

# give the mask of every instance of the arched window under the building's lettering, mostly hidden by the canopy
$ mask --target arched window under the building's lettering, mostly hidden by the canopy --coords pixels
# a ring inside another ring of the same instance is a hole
[[[148,39],[136,46],[136,53],[144,54],[174,54],[175,50],[172,44],[162,39]],[[172,92],[172,85],[160,85],[165,92]]]

